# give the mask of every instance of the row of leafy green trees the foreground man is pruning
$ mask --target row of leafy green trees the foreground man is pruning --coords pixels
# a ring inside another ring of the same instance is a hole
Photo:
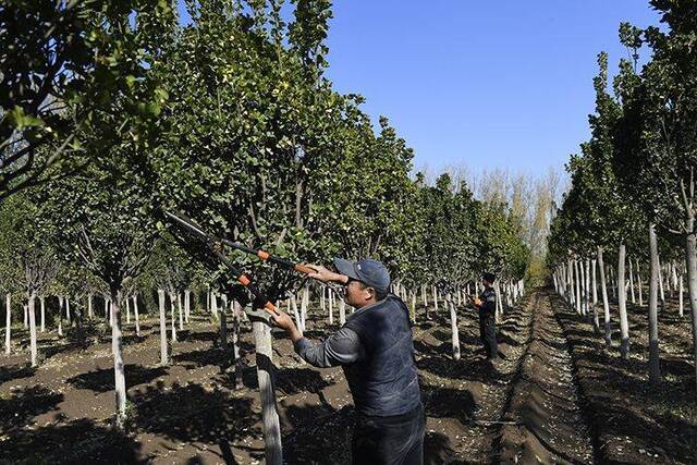
[[[293,260],[381,259],[407,301],[435,287],[462,302],[485,270],[502,277],[506,298],[522,292],[529,248],[513,210],[449,174],[412,176],[413,151],[388,120],[376,129],[363,98],[337,93],[323,73],[330,2],[292,3],[286,23],[281,0],[186,2],[187,25],[161,0],[2,7],[0,286],[26,303],[33,363],[37,298],[89,307],[85,297],[103,296],[119,425],[122,313],[134,295],[161,291],[164,326],[170,294],[172,334],[185,290],[253,304],[167,210]],[[229,258],[273,302],[299,283],[255,257]],[[84,307],[74,309],[82,321]],[[253,327],[272,405],[270,331]],[[278,417],[265,418],[265,433],[276,463]]]

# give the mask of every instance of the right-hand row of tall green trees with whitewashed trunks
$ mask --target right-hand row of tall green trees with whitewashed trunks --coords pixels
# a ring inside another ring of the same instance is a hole
[[[576,305],[587,302],[588,292],[596,292],[598,269],[608,343],[606,281],[616,268],[612,274],[623,357],[629,351],[627,287],[634,294],[636,283],[641,296],[639,269],[646,270],[649,374],[651,382],[659,382],[661,272],[674,276],[675,286],[686,277],[697,370],[697,2],[651,0],[650,4],[662,24],[645,29],[626,23],[620,26],[620,40],[629,58],[620,61],[611,88],[608,57],[600,53],[598,58],[591,137],[567,164],[571,188],[552,223],[548,262],[558,289]],[[648,58],[639,66],[644,51]],[[663,270],[660,261],[668,265]],[[616,267],[608,268],[610,262]],[[681,284],[681,302],[682,290]]]

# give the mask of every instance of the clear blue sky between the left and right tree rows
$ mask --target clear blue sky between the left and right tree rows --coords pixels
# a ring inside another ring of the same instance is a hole
[[[366,97],[415,166],[530,174],[588,137],[596,57],[626,50],[621,21],[658,24],[648,0],[335,0],[329,76]]]

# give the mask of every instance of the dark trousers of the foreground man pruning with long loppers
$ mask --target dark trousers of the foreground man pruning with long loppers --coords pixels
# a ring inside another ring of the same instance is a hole
[[[424,406],[390,417],[358,414],[351,452],[358,465],[421,465],[424,463]]]

